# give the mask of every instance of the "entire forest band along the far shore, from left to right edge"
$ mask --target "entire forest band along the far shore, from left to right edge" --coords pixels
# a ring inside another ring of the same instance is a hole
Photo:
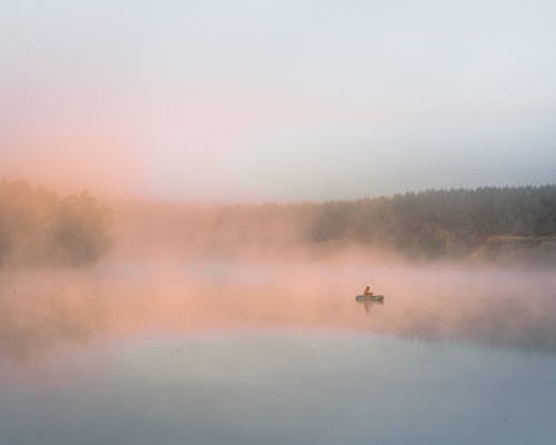
[[[109,209],[86,192],[61,198],[26,181],[0,181],[0,266],[88,266],[112,245],[131,255],[166,249],[182,257],[357,247],[408,259],[496,259],[519,249],[556,259],[556,186],[328,202],[136,202]]]

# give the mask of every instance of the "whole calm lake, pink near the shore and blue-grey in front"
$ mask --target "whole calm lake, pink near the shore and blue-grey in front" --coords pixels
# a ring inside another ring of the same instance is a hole
[[[552,444],[550,270],[120,263],[0,275],[0,443]],[[366,285],[384,304],[358,304]]]

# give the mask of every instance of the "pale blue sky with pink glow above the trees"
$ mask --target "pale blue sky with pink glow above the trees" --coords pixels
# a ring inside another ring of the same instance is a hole
[[[183,201],[556,182],[556,2],[0,0],[0,177]]]

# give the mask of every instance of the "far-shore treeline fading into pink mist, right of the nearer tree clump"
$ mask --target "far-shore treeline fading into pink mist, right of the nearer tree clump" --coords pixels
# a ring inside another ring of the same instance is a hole
[[[142,204],[122,219],[127,224],[120,225],[118,239],[129,251],[159,248],[191,257],[234,257],[356,247],[409,258],[464,258],[494,237],[493,249],[509,246],[506,240],[515,245],[517,238],[556,237],[556,186],[428,190],[329,202]],[[556,244],[550,248],[556,251]]]

